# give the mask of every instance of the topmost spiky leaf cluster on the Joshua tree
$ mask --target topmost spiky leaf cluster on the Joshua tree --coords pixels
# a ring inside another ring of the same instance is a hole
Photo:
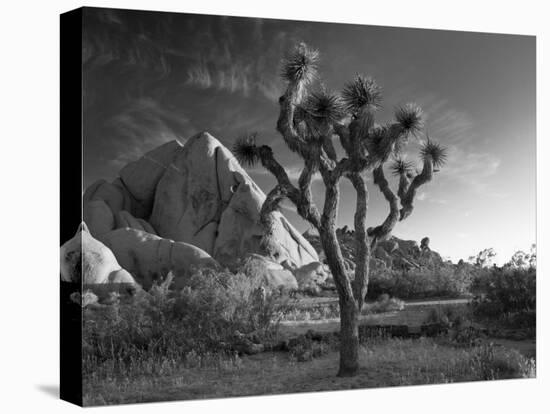
[[[319,51],[300,43],[284,58],[281,76],[288,82],[307,85],[317,77],[318,62]]]

